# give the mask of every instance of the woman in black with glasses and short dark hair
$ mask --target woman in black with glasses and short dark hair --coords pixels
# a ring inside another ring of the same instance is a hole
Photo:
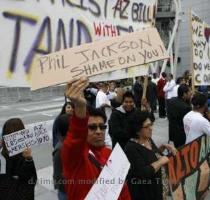
[[[169,145],[158,148],[152,137],[152,121],[146,111],[135,111],[128,119],[130,141],[125,146],[125,154],[131,163],[128,172],[128,187],[132,200],[162,200],[167,193],[167,184],[163,180],[163,165],[169,162],[162,152],[167,148],[175,153]]]

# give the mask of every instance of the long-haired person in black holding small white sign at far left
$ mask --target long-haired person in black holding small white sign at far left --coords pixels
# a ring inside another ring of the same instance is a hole
[[[2,136],[25,129],[19,118],[12,118],[5,122]],[[1,196],[4,200],[34,200],[34,188],[37,181],[36,168],[31,155],[31,149],[9,157],[5,143],[3,142],[2,155],[6,160],[5,182],[0,183]],[[2,185],[5,184],[5,185]]]

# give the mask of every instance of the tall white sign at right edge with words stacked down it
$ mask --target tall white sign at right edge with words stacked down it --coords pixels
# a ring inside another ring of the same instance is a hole
[[[193,74],[195,85],[210,85],[210,25],[192,12]]]

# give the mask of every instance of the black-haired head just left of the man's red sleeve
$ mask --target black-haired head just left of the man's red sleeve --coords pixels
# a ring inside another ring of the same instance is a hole
[[[62,139],[66,137],[69,128],[69,118],[70,115],[62,114],[56,119],[58,134]]]

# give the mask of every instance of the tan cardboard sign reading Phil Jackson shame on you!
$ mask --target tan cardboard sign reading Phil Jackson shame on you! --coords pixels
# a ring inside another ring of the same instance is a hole
[[[155,28],[84,44],[37,59],[32,90],[168,58]]]

